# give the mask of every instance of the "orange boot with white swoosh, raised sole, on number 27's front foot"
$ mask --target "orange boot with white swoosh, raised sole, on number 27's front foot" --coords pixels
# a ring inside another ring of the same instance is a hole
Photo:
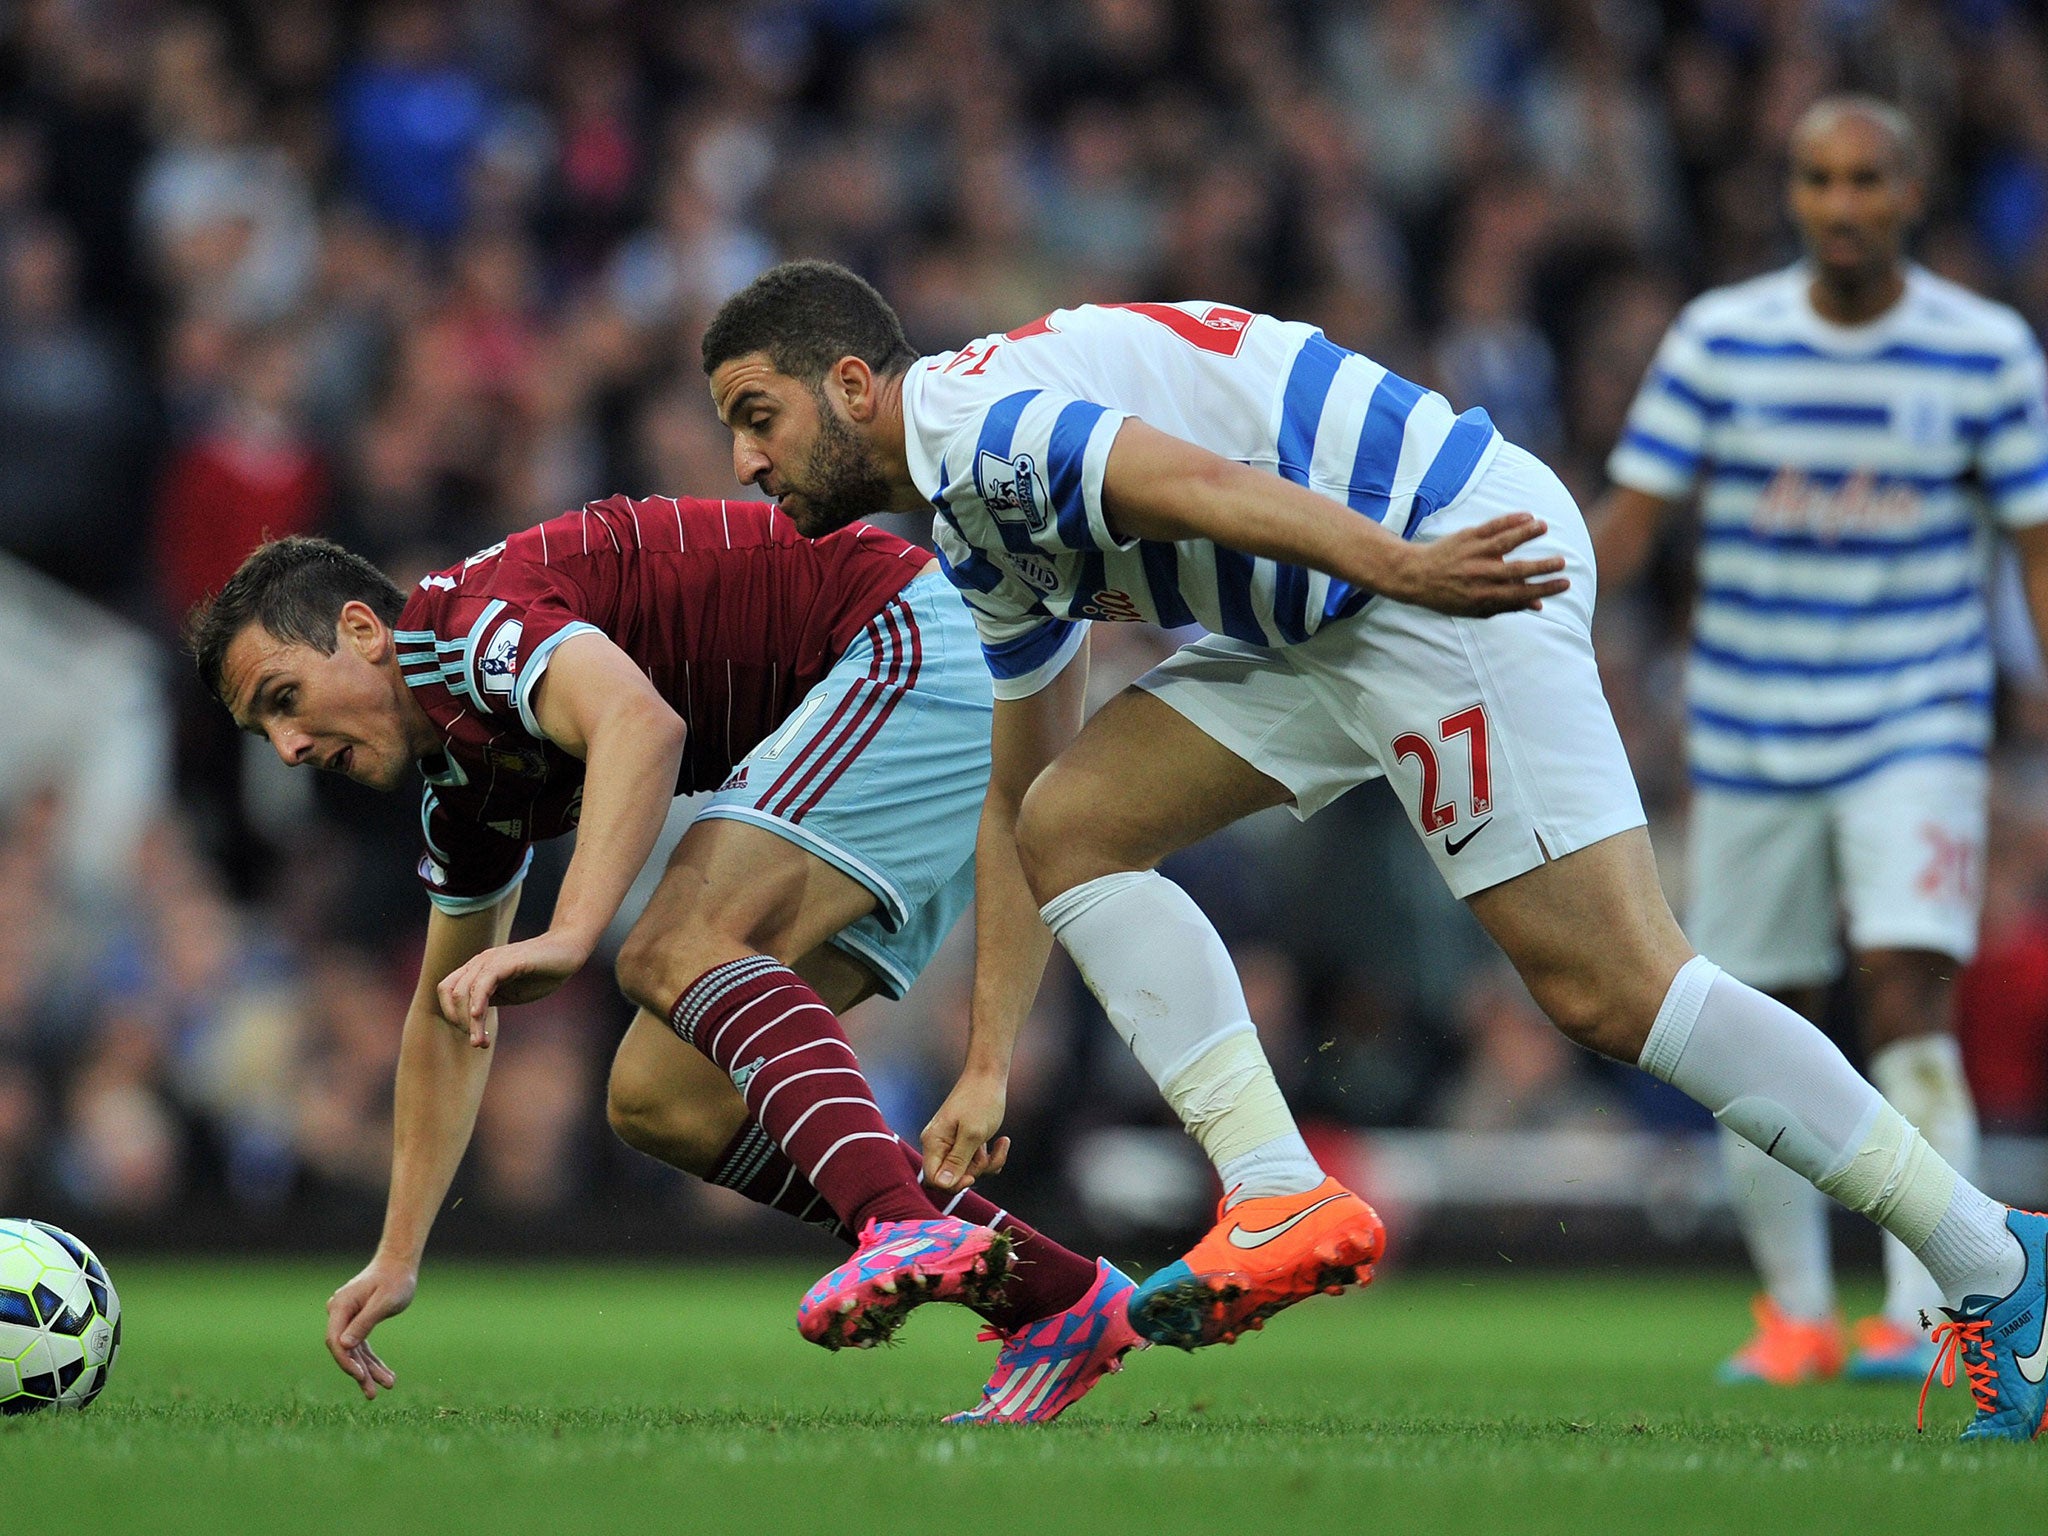
[[[1130,1327],[1153,1343],[1231,1343],[1313,1294],[1372,1280],[1386,1227],[1337,1180],[1217,1208],[1217,1225],[1186,1257],[1130,1296]]]

